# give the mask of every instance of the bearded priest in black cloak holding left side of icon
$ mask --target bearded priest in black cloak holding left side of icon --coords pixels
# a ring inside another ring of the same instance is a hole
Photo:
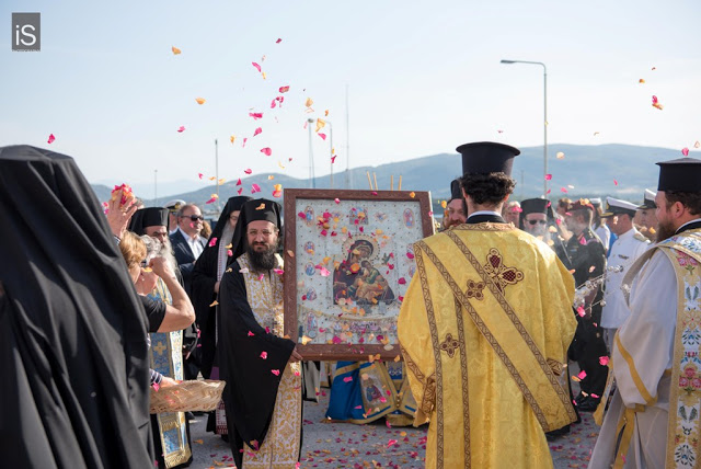
[[[301,356],[285,339],[280,206],[241,207],[218,306],[220,379],[238,468],[290,468],[301,449]]]

